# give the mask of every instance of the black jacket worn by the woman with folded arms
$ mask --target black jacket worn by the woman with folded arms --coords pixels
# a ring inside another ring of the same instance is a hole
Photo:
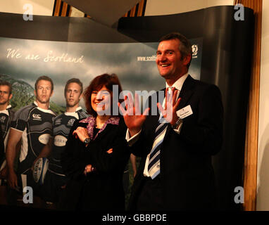
[[[87,148],[72,135],[77,127],[87,127],[87,123],[77,121],[70,130],[62,160],[63,171],[70,181],[59,207],[62,210],[124,210],[123,172],[130,152],[123,119],[119,125],[107,124]],[[113,153],[106,153],[110,148]],[[83,172],[89,164],[96,171],[85,176]]]

